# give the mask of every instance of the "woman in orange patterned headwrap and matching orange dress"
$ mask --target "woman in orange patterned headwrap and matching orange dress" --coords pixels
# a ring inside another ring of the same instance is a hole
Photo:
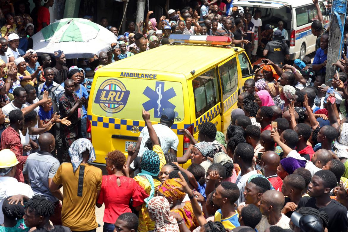
[[[186,195],[176,187],[182,187],[177,181],[180,179],[167,179],[163,185],[158,189],[158,195],[165,197],[169,204],[171,212],[179,214],[190,231],[196,229],[199,226],[197,218],[193,213],[192,205],[190,201],[182,202],[182,198]]]

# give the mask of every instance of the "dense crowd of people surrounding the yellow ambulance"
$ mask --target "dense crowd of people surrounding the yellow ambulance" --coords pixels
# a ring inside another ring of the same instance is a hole
[[[53,0],[31,14],[25,3],[18,13],[10,5],[0,38],[0,232],[93,232],[103,205],[104,232],[348,230],[348,59],[342,53],[332,64],[341,71],[325,83],[329,34],[320,11],[311,25],[314,61],[288,65],[282,21],[261,30],[259,9],[252,15],[231,0],[193,2],[158,23],[149,11],[123,35],[103,17],[117,42],[69,68],[63,51],[39,62],[32,49]],[[346,39],[348,21],[344,30]],[[143,110],[136,145],[127,158],[106,154],[103,175],[90,164],[87,72],[169,43],[171,33],[229,36],[254,61],[262,47],[264,66],[245,81],[226,134],[211,122],[199,125],[197,140],[182,129],[190,145],[177,154],[174,110],[164,109],[155,125]]]

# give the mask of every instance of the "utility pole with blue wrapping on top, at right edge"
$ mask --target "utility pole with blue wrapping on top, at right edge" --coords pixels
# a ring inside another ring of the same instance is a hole
[[[332,65],[336,63],[342,53],[343,45],[343,27],[346,19],[347,0],[333,0],[330,18],[329,47],[327,49],[326,75],[327,83],[335,74],[337,67]]]

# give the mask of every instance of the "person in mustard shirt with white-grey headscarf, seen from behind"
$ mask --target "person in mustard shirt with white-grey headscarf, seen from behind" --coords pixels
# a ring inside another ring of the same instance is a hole
[[[51,192],[63,189],[62,222],[73,231],[88,231],[98,227],[95,218],[95,203],[102,185],[102,170],[90,165],[95,160],[95,151],[87,138],[79,138],[69,148],[71,162],[63,162],[58,168],[53,181],[49,184]],[[83,187],[80,187],[83,185]],[[86,213],[88,212],[88,213]],[[66,217],[73,214],[84,218],[83,223],[68,222]]]

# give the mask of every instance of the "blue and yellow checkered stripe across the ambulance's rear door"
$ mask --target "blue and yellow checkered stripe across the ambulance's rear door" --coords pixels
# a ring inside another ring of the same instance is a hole
[[[115,130],[128,130],[128,131],[132,131],[133,126],[139,127],[139,131],[141,131],[145,127],[144,121],[117,119],[117,118],[92,116],[92,115],[87,115],[87,117],[93,127],[103,127],[103,128],[111,128]],[[159,122],[157,122],[157,124],[158,123]],[[191,125],[193,125],[193,123],[191,124],[174,123],[171,126],[171,129],[174,131],[174,133],[181,134],[179,132],[180,129],[188,128]]]

